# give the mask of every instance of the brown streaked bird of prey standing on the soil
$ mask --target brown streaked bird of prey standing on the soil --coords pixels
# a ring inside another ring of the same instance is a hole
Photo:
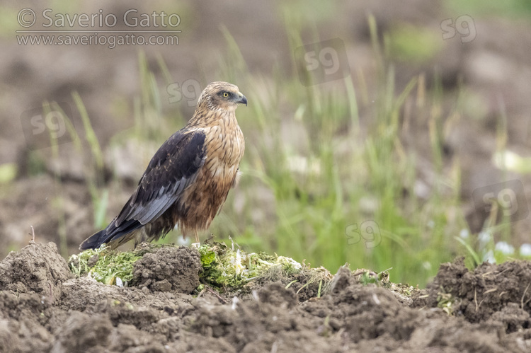
[[[244,155],[237,105],[247,98],[237,86],[212,82],[199,96],[188,124],[162,144],[120,214],[89,236],[80,250],[154,241],[176,225],[183,237],[206,230],[236,185]]]

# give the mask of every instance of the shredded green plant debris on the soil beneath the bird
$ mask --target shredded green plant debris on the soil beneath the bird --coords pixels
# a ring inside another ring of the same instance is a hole
[[[76,277],[87,274],[104,284],[133,284],[135,262],[145,253],[156,251],[169,244],[148,244],[132,251],[84,250],[69,257],[68,264]],[[199,253],[202,264],[200,278],[208,284],[223,291],[251,291],[264,282],[280,281],[286,287],[297,287],[316,296],[324,294],[332,279],[324,267],[311,268],[289,257],[268,255],[266,253],[246,253],[243,250],[229,248],[224,243],[203,244]],[[204,287],[204,285],[202,285]]]

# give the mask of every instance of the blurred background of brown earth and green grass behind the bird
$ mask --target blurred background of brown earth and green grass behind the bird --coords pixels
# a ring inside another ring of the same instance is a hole
[[[531,257],[529,1],[0,6],[1,258],[30,226],[77,253],[211,81],[249,105],[202,240],[421,287],[459,255]]]

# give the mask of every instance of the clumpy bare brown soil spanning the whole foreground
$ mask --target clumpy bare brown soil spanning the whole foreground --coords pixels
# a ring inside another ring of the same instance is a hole
[[[198,298],[190,292],[199,271],[195,249],[160,248],[137,262],[139,286],[119,288],[74,278],[54,243],[30,244],[0,262],[0,352],[531,349],[529,262],[474,272],[462,260],[443,264],[413,301],[364,286],[345,267],[320,299],[279,282],[247,299]],[[447,302],[452,316],[438,308]]]

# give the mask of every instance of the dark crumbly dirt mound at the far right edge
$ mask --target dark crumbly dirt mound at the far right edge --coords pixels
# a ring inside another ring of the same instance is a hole
[[[531,328],[531,262],[493,265],[484,262],[474,271],[464,259],[440,266],[415,306],[445,308],[471,323],[503,323],[507,333]]]

